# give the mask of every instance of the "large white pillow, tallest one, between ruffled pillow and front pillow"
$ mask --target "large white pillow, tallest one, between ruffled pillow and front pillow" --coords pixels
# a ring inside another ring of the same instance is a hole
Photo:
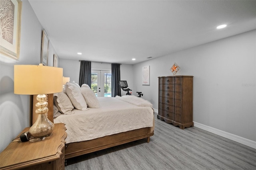
[[[66,93],[76,109],[87,110],[86,101],[84,100],[84,97],[80,92],[80,88],[78,88],[76,84],[67,82]]]

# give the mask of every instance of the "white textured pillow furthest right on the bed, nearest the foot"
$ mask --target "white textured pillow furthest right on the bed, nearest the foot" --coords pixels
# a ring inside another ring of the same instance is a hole
[[[90,88],[81,87],[82,95],[90,108],[100,108],[100,103],[98,98],[95,96],[94,92]]]

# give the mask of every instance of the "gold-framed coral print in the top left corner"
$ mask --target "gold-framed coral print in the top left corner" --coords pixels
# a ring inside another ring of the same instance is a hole
[[[5,0],[0,3],[0,53],[12,59],[20,57],[21,0]]]

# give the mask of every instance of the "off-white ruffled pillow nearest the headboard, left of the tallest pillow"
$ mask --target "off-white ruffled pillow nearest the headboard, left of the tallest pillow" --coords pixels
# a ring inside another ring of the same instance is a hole
[[[72,114],[74,106],[65,92],[54,93],[54,104],[63,114]]]

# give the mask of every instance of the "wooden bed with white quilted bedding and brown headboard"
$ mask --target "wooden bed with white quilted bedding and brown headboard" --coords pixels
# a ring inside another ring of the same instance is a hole
[[[90,94],[92,95],[91,92]],[[87,93],[86,96],[90,95]],[[136,96],[97,98],[100,106],[98,108],[87,107],[80,110],[74,107],[67,114],[58,113],[60,115],[57,117],[54,116],[55,94],[48,94],[47,100],[48,119],[54,123],[65,123],[67,129],[65,159],[144,138],[149,143],[150,137],[154,135],[152,104],[150,106],[148,101]],[[35,102],[37,102],[36,96],[33,99],[33,103]],[[86,100],[86,102],[88,106],[88,102],[92,101]],[[34,123],[37,115],[35,104],[33,106],[32,119]],[[82,125],[75,126],[78,123],[82,123]]]

